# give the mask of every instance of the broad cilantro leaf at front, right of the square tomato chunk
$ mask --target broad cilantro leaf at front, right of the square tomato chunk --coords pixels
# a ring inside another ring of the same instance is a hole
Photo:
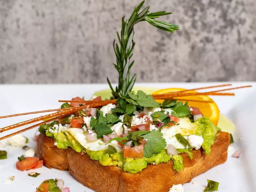
[[[154,153],[159,153],[166,146],[163,134],[160,131],[152,130],[143,137],[148,140],[144,146],[144,156],[147,158],[152,157]]]

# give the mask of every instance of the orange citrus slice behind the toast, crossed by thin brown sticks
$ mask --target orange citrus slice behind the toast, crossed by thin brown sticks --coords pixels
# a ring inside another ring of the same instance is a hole
[[[168,88],[168,89],[161,89],[153,94],[164,94],[169,92],[176,92],[176,91],[183,91],[185,89],[182,88]],[[196,92],[196,91],[188,91],[188,92]],[[188,101],[189,106],[197,107],[203,113],[204,116],[208,116],[210,121],[217,126],[220,116],[220,110],[216,103],[206,95],[195,95],[195,96],[186,96],[181,97],[182,102],[185,103],[186,101],[183,100],[204,100],[204,101],[211,101],[210,103],[206,102],[196,102],[196,101]],[[156,102],[163,102],[164,100],[156,100]],[[178,100],[179,101],[179,100]]]

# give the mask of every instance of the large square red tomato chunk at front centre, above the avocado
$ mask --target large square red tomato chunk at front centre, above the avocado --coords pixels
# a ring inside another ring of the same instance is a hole
[[[143,145],[135,146],[135,147],[127,147],[123,146],[124,158],[134,158],[141,159],[143,158]]]

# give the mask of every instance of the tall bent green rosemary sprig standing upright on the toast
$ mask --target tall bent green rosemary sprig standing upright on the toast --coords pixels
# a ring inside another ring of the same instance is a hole
[[[113,47],[116,54],[116,64],[113,63],[116,70],[119,73],[118,78],[118,86],[116,86],[116,89],[114,90],[109,79],[107,78],[109,87],[112,91],[113,98],[125,98],[132,90],[132,87],[136,80],[136,74],[132,76],[130,79],[130,69],[132,68],[132,65],[134,64],[134,60],[130,62],[132,58],[132,54],[134,51],[135,42],[133,41],[134,36],[134,30],[133,26],[140,22],[140,21],[147,21],[149,24],[153,25],[156,28],[159,28],[164,31],[168,31],[173,33],[175,30],[179,29],[179,26],[155,20],[156,18],[159,18],[163,15],[169,15],[172,14],[171,12],[153,12],[148,13],[149,6],[147,6],[145,9],[143,9],[141,12],[140,9],[145,1],[142,1],[138,7],[136,7],[129,18],[129,20],[124,20],[124,17],[122,17],[122,30],[121,30],[121,36],[119,36],[119,33],[117,32],[117,38],[120,44],[120,47],[116,43],[116,40],[113,42]]]

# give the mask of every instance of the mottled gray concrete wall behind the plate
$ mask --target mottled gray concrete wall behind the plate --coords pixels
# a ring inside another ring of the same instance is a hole
[[[138,0],[0,0],[0,83],[117,81],[112,48]],[[255,0],[146,0],[174,34],[135,26],[138,82],[256,81]]]

